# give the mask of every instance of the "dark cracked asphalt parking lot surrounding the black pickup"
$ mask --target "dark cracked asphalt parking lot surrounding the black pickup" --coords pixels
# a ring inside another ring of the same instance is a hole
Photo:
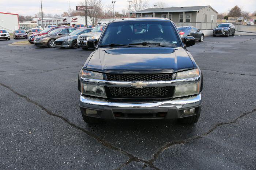
[[[203,71],[194,125],[174,120],[83,122],[82,49],[0,40],[0,169],[255,169],[256,36],[188,47]]]

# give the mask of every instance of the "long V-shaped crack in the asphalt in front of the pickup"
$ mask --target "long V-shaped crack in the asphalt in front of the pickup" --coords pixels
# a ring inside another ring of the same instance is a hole
[[[40,108],[41,108],[42,110],[44,110],[47,114],[49,114],[49,115],[51,115],[51,116],[54,116],[54,117],[57,117],[57,118],[60,118],[60,119],[64,120],[65,123],[68,123],[70,126],[76,128],[76,129],[78,129],[78,130],[83,131],[84,133],[86,133],[86,134],[89,135],[90,137],[94,138],[96,141],[98,141],[98,142],[101,143],[103,146],[107,147],[108,149],[114,150],[114,151],[118,151],[118,152],[120,152],[120,153],[126,155],[126,156],[129,158],[128,161],[126,161],[124,164],[122,164],[120,167],[118,167],[117,170],[122,169],[124,166],[128,165],[128,164],[131,163],[131,162],[139,162],[139,161],[146,163],[146,164],[144,164],[145,167],[146,167],[146,166],[149,166],[149,167],[151,167],[151,168],[154,168],[154,169],[156,169],[156,170],[159,170],[158,167],[155,167],[155,166],[154,166],[154,162],[155,162],[155,160],[159,157],[159,155],[162,153],[162,151],[164,151],[165,149],[167,149],[167,148],[169,148],[169,147],[171,147],[171,146],[173,146],[173,145],[185,144],[185,143],[189,143],[189,142],[191,142],[191,141],[193,141],[193,140],[195,140],[195,139],[203,138],[203,137],[207,136],[208,134],[210,134],[210,133],[211,133],[212,131],[214,131],[215,129],[217,129],[219,126],[222,126],[222,125],[225,125],[225,124],[232,124],[232,123],[235,123],[235,122],[237,122],[238,119],[244,117],[244,116],[247,115],[247,114],[250,114],[250,113],[256,111],[256,108],[255,108],[255,109],[253,109],[253,110],[250,111],[250,112],[245,112],[245,113],[243,113],[242,115],[240,115],[238,118],[232,120],[231,122],[217,123],[214,127],[212,127],[210,130],[208,130],[208,131],[207,131],[206,133],[204,133],[204,134],[197,135],[197,136],[194,136],[194,137],[191,137],[191,138],[187,138],[187,139],[182,139],[182,140],[178,140],[178,141],[173,141],[173,142],[166,143],[165,145],[163,145],[162,147],[160,147],[160,148],[155,152],[155,154],[153,154],[153,158],[152,158],[152,159],[150,159],[150,160],[147,161],[147,160],[140,159],[140,158],[138,158],[138,157],[136,157],[136,156],[134,156],[134,155],[128,153],[127,151],[122,150],[122,149],[116,147],[116,146],[113,146],[111,143],[109,143],[109,142],[107,142],[107,141],[105,141],[105,140],[99,138],[97,135],[91,133],[90,131],[87,131],[87,130],[83,129],[82,127],[79,127],[79,126],[77,126],[77,125],[74,124],[74,123],[71,123],[67,118],[65,118],[65,117],[63,117],[63,116],[60,116],[60,115],[57,115],[57,114],[54,114],[53,112],[49,111],[47,108],[45,108],[44,106],[42,106],[41,104],[35,102],[34,100],[31,100],[30,98],[28,98],[28,97],[25,96],[25,95],[22,95],[22,94],[16,92],[16,91],[13,90],[11,87],[9,87],[9,86],[7,86],[7,85],[5,85],[5,84],[3,84],[3,83],[0,83],[0,85],[3,86],[3,87],[5,87],[5,88],[7,88],[8,90],[10,90],[11,92],[13,92],[14,94],[18,95],[19,97],[25,98],[25,99],[27,100],[27,102],[30,102],[30,103],[35,104],[36,106],[40,107]],[[144,166],[143,166],[143,168],[144,168]]]

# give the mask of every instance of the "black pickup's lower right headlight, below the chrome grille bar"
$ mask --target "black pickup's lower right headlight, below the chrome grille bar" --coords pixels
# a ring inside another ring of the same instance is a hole
[[[174,98],[199,94],[200,82],[175,86]]]

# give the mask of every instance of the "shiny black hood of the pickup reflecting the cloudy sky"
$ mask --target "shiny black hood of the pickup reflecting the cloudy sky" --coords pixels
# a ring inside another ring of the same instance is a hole
[[[84,69],[103,73],[172,73],[194,68],[182,47],[98,48]]]

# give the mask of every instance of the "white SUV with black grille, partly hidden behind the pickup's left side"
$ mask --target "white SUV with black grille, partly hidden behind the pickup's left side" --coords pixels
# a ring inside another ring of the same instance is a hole
[[[91,32],[87,32],[79,35],[77,38],[78,47],[81,47],[83,49],[88,49],[89,47],[87,46],[87,40],[90,40],[90,39],[98,40],[105,26],[106,24],[97,25],[96,27],[93,28],[93,30],[91,30]]]

